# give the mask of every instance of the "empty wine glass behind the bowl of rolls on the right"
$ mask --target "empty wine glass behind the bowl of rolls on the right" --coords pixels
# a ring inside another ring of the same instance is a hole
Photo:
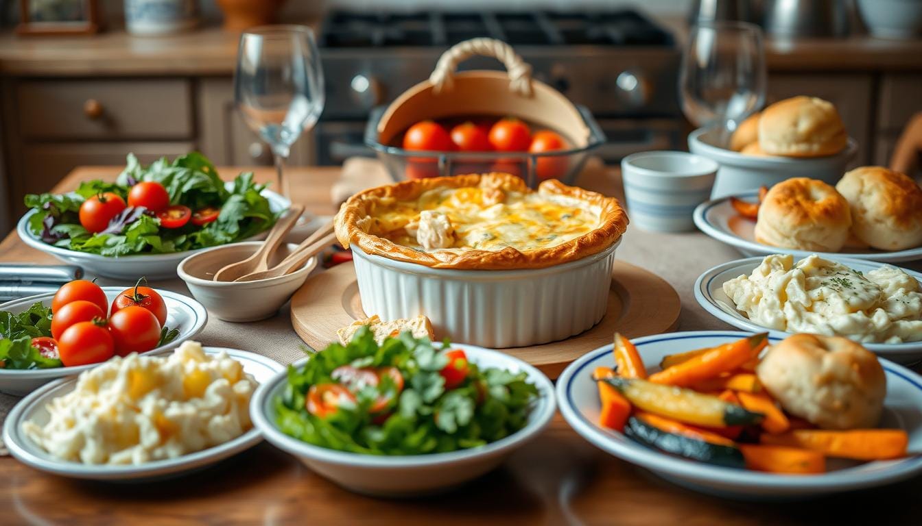
[[[746,22],[691,28],[682,53],[682,111],[697,126],[715,126],[722,143],[765,102],[762,29]]]

